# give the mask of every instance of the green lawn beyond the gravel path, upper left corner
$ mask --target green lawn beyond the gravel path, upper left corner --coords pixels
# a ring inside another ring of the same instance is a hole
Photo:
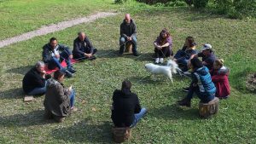
[[[117,9],[111,0],[0,1],[0,40],[62,20]]]

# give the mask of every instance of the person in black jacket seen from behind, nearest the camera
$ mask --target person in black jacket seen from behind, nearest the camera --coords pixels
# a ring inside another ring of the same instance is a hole
[[[136,94],[131,92],[131,82],[125,80],[122,89],[113,92],[112,115],[115,127],[134,127],[147,112],[141,108]]]

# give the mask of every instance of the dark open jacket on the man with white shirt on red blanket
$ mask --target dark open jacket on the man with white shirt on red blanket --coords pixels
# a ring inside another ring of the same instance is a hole
[[[56,46],[56,49],[60,51],[60,54],[61,54],[61,52],[65,51],[67,53],[67,55],[71,55],[71,51],[69,50],[69,48],[66,45],[58,44]],[[43,54],[42,54],[44,63],[48,63],[49,60],[52,59],[53,53],[54,53],[54,51],[51,49],[50,44],[49,43],[45,44],[43,47]]]

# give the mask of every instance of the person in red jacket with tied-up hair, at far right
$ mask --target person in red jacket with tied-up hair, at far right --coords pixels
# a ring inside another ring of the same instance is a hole
[[[223,59],[214,61],[211,75],[212,82],[217,89],[216,96],[218,98],[228,98],[230,95],[229,74],[230,69],[224,66]]]

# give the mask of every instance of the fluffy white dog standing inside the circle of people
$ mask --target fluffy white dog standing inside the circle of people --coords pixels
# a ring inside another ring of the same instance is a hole
[[[172,72],[177,73],[177,63],[173,60],[168,60],[166,66],[159,66],[154,65],[153,63],[148,63],[145,65],[145,68],[148,72],[150,72],[153,77],[155,78],[155,75],[166,75],[166,77],[170,78],[172,81]],[[172,81],[173,83],[173,81]]]

